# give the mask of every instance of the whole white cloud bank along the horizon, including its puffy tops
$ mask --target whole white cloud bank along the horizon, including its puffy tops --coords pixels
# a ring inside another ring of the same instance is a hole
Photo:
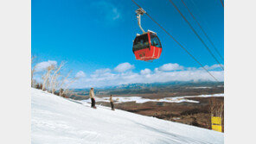
[[[122,63],[115,67],[114,71],[109,68],[99,69],[93,72],[91,77],[81,78],[76,81],[73,87],[105,87],[135,83],[164,83],[171,81],[214,81],[214,78],[212,78],[208,72],[196,67],[183,67],[178,64],[166,64],[155,68],[154,71],[151,71],[149,68],[145,68],[140,72],[128,71],[134,67],[135,66],[130,63]],[[215,66],[210,67],[214,68]],[[224,71],[214,69],[209,70],[209,72],[211,72],[211,74],[219,81],[224,80]]]

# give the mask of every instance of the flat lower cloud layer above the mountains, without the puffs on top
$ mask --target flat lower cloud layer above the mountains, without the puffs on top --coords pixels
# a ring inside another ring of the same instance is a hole
[[[145,74],[146,72],[147,74]],[[150,72],[148,70],[136,73],[136,72],[123,72],[123,73],[111,73],[108,72],[99,77],[91,77],[81,79],[75,82],[75,88],[84,87],[104,87],[113,85],[125,85],[135,83],[157,83],[157,82],[170,82],[170,81],[214,81],[214,78],[208,75],[208,72],[202,70],[195,71],[174,71],[174,72]],[[219,81],[223,81],[223,71],[210,71],[215,78]],[[83,87],[80,87],[82,85]]]

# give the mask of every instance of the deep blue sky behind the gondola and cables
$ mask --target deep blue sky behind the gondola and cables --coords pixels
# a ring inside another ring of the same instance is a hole
[[[202,39],[212,48],[182,2],[173,1]],[[209,70],[221,73],[216,74],[216,77],[223,80],[223,72],[218,69],[216,62],[201,41],[168,0],[137,0],[136,2],[184,47],[188,48],[204,66],[216,67]],[[184,2],[223,56],[224,11],[221,2],[216,0],[184,0]],[[134,12],[136,9],[138,7],[134,3],[125,0],[32,0],[31,53],[37,56],[37,62],[67,61],[68,69],[73,71],[73,76],[77,72],[83,72],[81,80],[74,87],[82,87],[80,85],[91,82],[93,75],[99,71],[105,74],[110,73],[108,76],[111,75],[114,78],[121,77],[122,74],[141,75],[144,70],[150,70],[150,74],[153,75],[157,73],[156,68],[159,69],[164,65],[170,66],[170,69],[163,72],[172,72],[172,74],[195,71],[195,69],[200,71],[198,64],[147,16],[142,17],[142,26],[145,30],[157,32],[162,42],[163,53],[160,59],[151,63],[136,60],[131,51],[132,41],[137,33],[141,33]],[[212,51],[214,52],[214,49]],[[118,71],[118,65],[121,65],[125,71]],[[174,68],[177,65],[183,68]],[[106,83],[108,76],[102,78],[106,78],[101,82],[102,84]],[[138,77],[144,81],[144,77],[136,76],[137,79]],[[210,78],[205,79],[210,80]],[[115,84],[123,84],[123,80],[123,78],[116,78]],[[125,84],[133,82],[137,81],[124,81]],[[149,82],[156,82],[156,80]],[[94,85],[97,86],[96,82]]]

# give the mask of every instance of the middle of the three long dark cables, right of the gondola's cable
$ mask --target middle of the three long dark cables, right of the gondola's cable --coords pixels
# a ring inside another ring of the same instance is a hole
[[[221,65],[221,63],[219,62],[218,59],[216,59],[216,57],[214,56],[214,53],[211,52],[211,50],[209,49],[209,47],[206,45],[206,43],[202,40],[202,38],[200,37],[200,35],[195,31],[195,28],[192,27],[192,25],[190,24],[190,22],[186,19],[185,16],[183,16],[182,12],[176,7],[176,4],[172,2],[172,0],[169,0],[170,3],[176,8],[176,10],[179,12],[179,14],[182,16],[182,18],[185,20],[185,22],[187,22],[189,24],[189,27],[192,29],[192,31],[195,33],[195,35],[198,37],[198,39],[202,42],[202,44],[204,45],[204,47],[207,48],[208,52],[212,55],[212,57],[215,59],[215,61],[221,66],[221,69],[224,70],[224,67]]]

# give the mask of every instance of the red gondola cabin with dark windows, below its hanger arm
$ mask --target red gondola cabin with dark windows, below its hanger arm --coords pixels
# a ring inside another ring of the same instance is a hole
[[[160,57],[162,45],[157,34],[148,30],[148,32],[136,36],[132,51],[136,59],[148,61]]]

